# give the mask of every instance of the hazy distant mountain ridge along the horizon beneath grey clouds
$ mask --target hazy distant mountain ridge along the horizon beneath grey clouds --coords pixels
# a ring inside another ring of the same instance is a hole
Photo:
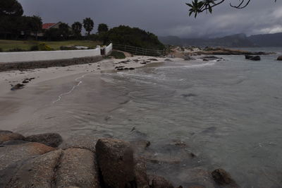
[[[228,35],[217,38],[185,39],[175,36],[159,37],[165,45],[199,46],[199,47],[282,47],[282,33],[252,35]]]

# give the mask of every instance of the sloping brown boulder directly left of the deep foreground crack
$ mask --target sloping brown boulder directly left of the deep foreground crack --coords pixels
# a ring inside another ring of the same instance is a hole
[[[28,160],[6,187],[54,187],[54,169],[61,153],[61,150],[51,151]]]

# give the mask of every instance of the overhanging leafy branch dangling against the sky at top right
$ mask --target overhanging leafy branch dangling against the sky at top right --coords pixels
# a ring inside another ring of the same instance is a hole
[[[209,11],[209,13],[212,13],[212,8],[214,6],[218,6],[219,4],[222,4],[226,0],[192,0],[192,4],[187,4],[190,6],[189,9],[189,16],[194,13],[195,18],[197,17],[198,13],[202,13],[203,11]],[[234,5],[230,3],[230,6],[233,8],[245,8],[250,4],[251,0],[239,0],[238,4]],[[274,0],[276,2],[276,0]]]

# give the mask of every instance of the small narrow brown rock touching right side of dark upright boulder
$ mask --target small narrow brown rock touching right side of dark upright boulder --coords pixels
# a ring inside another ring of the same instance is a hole
[[[149,188],[149,179],[147,177],[147,167],[145,160],[135,160],[134,174],[135,182],[138,188]]]

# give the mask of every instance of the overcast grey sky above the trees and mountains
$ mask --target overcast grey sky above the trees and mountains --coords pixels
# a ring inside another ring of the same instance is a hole
[[[236,33],[247,35],[282,32],[282,0],[252,0],[244,9],[231,8],[226,0],[214,13],[188,17],[191,0],[18,0],[25,15],[41,16],[44,23],[94,20],[110,28],[130,25],[159,36],[219,37]]]

